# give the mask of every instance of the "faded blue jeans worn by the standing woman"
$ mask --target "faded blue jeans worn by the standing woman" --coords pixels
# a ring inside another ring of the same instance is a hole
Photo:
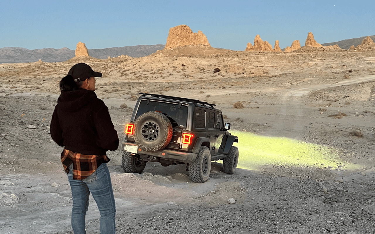
[[[86,234],[85,216],[89,207],[90,192],[100,211],[100,233],[114,234],[115,225],[115,198],[113,195],[110,171],[107,163],[102,163],[96,171],[83,180],[73,179],[73,164],[69,166],[68,179],[72,189],[72,228],[74,234]]]

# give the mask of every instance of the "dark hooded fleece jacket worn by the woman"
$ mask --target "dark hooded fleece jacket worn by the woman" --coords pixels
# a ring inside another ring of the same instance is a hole
[[[61,91],[51,120],[51,137],[59,146],[87,155],[106,155],[118,148],[108,107],[94,91]]]

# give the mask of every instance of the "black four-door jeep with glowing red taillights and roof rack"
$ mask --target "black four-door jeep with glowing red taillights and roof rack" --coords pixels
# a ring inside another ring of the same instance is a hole
[[[163,166],[185,164],[193,182],[210,176],[211,161],[223,160],[223,171],[233,174],[239,151],[238,137],[227,130],[223,114],[204,101],[142,94],[125,127],[121,164],[126,173],[142,173],[146,162]]]

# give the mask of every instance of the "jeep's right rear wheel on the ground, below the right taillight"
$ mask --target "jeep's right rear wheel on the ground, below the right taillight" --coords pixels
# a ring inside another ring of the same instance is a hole
[[[211,172],[211,154],[206,146],[201,146],[194,162],[189,164],[189,176],[193,182],[204,183]]]

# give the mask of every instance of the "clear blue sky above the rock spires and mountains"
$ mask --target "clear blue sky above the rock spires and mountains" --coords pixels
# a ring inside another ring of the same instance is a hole
[[[169,28],[201,30],[211,46],[240,50],[257,34],[272,46],[375,35],[375,1],[3,0],[0,48],[89,49],[165,44]]]

